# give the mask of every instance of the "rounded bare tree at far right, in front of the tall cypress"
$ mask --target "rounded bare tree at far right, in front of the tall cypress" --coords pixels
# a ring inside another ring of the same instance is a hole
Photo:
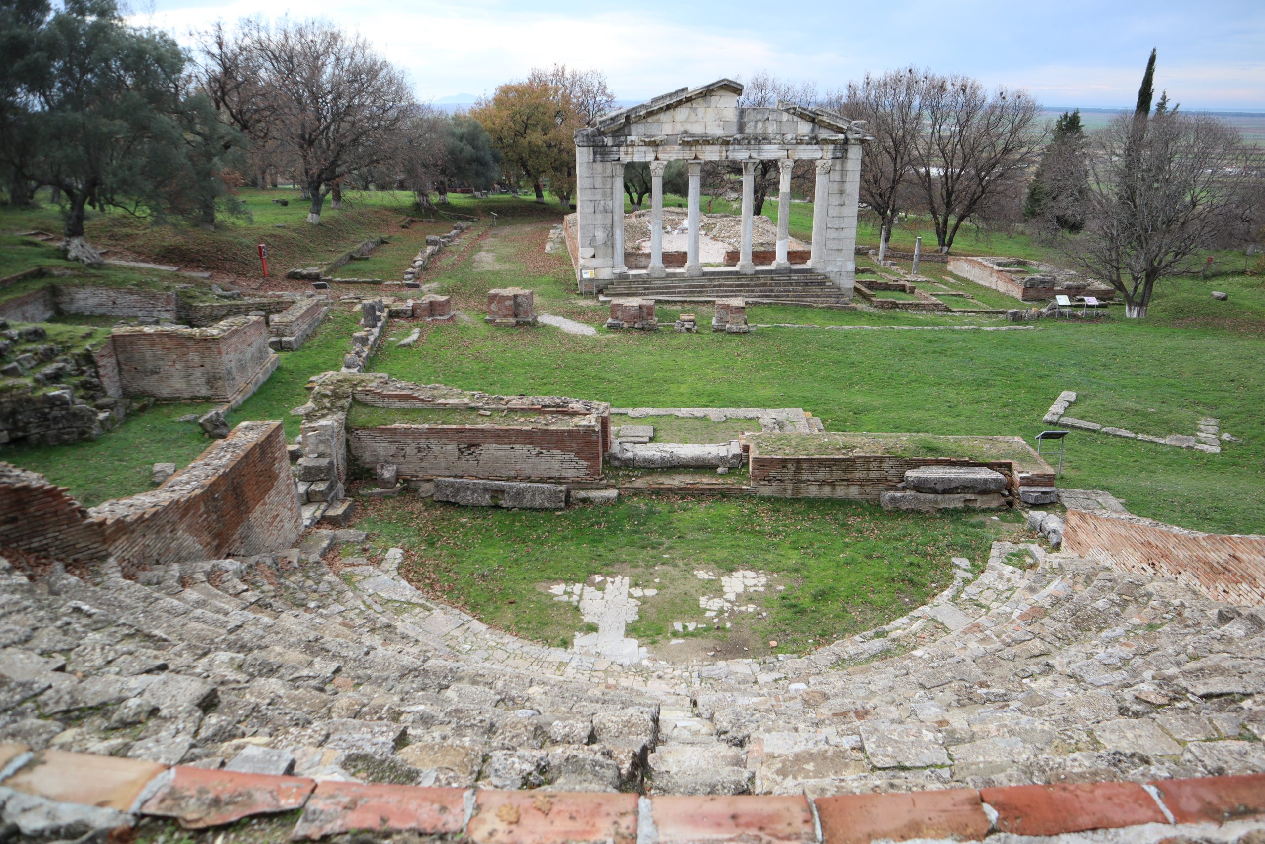
[[[1250,234],[1249,200],[1261,177],[1240,134],[1216,118],[1122,114],[1079,156],[1060,158],[1050,178],[1068,189],[1046,214],[1080,215],[1080,235],[1058,243],[1120,291],[1126,316],[1144,318],[1159,280],[1194,272],[1192,258],[1227,232]]]

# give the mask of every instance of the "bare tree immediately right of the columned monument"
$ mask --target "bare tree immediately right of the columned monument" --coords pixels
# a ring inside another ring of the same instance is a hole
[[[918,135],[922,132],[922,90],[925,71],[906,68],[882,75],[867,73],[850,82],[846,92],[826,97],[845,118],[864,120],[874,137],[861,156],[861,201],[878,216],[878,224],[891,232],[896,215],[908,210],[910,186],[915,181]]]

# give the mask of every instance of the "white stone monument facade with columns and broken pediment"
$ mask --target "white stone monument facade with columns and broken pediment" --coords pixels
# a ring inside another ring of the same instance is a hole
[[[739,106],[743,86],[717,80],[681,89],[643,105],[614,111],[596,127],[576,133],[577,278],[582,292],[597,292],[611,280],[627,277],[624,248],[624,166],[650,162],[650,263],[645,273],[667,277],[663,261],[663,172],[668,161],[687,162],[688,248],[683,273],[702,276],[698,257],[702,162],[743,166],[743,235],[737,272],[754,273],[751,230],[755,164],[778,159],[779,208],[791,202],[791,173],[797,161],[816,164],[813,237],[810,263],[850,295],[856,268],[856,206],[863,123],[825,109],[778,102],[774,109]],[[779,215],[773,271],[789,268],[789,215]]]

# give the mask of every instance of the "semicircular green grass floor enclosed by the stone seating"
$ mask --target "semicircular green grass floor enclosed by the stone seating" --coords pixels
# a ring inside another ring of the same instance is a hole
[[[626,574],[632,586],[658,588],[643,599],[627,634],[664,644],[683,638],[673,621],[705,621],[700,595],[720,595],[720,582],[701,581],[694,569],[772,572],[769,591],[743,601],[768,617],[737,612],[729,630],[706,631],[722,652],[751,657],[767,653],[769,640],[778,652],[803,652],[824,636],[883,624],[947,586],[950,557],[983,562],[993,539],[1018,528],[1013,514],[925,516],[764,499],[625,496],[615,505],[509,511],[410,496],[362,506],[357,526],[373,531],[379,548],[404,548],[401,571],[411,581],[488,624],[549,644],[569,644],[582,629],[578,610],[545,591],[555,583]],[[779,585],[787,588],[775,591]]]

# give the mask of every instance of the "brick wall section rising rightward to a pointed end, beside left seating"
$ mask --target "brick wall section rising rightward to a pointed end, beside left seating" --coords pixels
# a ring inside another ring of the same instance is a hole
[[[299,497],[280,421],[247,421],[152,492],[89,511],[124,571],[292,548]]]

